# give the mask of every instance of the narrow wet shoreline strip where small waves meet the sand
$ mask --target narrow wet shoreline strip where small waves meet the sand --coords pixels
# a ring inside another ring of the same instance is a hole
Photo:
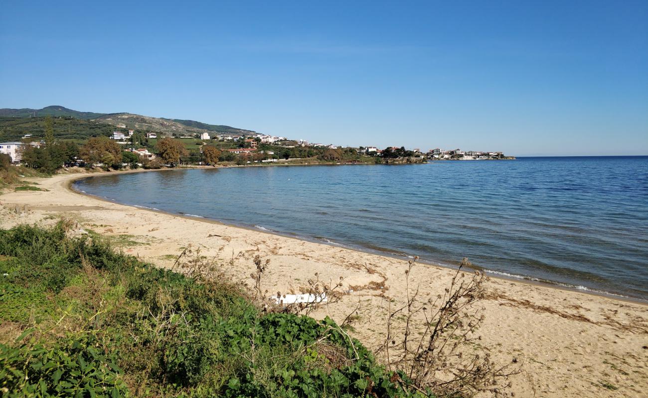
[[[502,160],[508,160],[508,159],[502,159]],[[369,163],[366,163],[369,164]],[[272,164],[272,165],[255,165],[255,166],[340,166],[343,164]],[[231,168],[231,167],[249,167],[251,165],[240,165],[240,166],[220,166],[216,168]],[[380,164],[378,165],[380,166]],[[383,165],[383,166],[389,166],[389,165]],[[185,167],[185,168],[174,168],[174,169],[150,169],[150,170],[144,170],[144,169],[137,169],[137,170],[124,170],[124,171],[108,171],[108,172],[102,172],[102,173],[88,173],[86,174],[81,174],[78,177],[71,178],[67,181],[66,188],[70,190],[73,193],[76,193],[78,195],[84,195],[87,197],[91,197],[93,199],[97,199],[99,201],[106,201],[108,203],[115,203],[117,205],[122,205],[122,206],[130,206],[133,208],[138,208],[141,210],[146,210],[150,212],[157,212],[161,214],[167,214],[169,216],[175,216],[175,217],[183,217],[186,219],[192,219],[194,221],[202,221],[206,223],[215,223],[217,225],[224,225],[228,227],[233,227],[233,228],[242,228],[245,230],[249,230],[252,232],[260,232],[262,234],[270,234],[274,236],[281,236],[283,238],[288,238],[288,239],[296,239],[298,241],[307,241],[310,243],[316,243],[320,245],[327,245],[330,247],[338,247],[340,249],[347,249],[347,250],[354,250],[356,252],[364,253],[364,254],[372,254],[376,256],[385,256],[388,258],[393,258],[395,260],[403,260],[403,261],[408,261],[413,259],[413,255],[404,253],[403,255],[399,255],[395,252],[390,252],[388,249],[383,250],[371,250],[367,249],[364,247],[359,247],[359,246],[353,246],[353,245],[346,245],[344,243],[337,243],[337,242],[332,242],[332,241],[326,241],[323,239],[318,239],[318,238],[309,238],[309,237],[301,237],[301,236],[294,236],[291,232],[280,232],[280,231],[275,231],[275,230],[261,230],[260,228],[255,228],[255,227],[250,227],[249,225],[242,225],[242,224],[237,224],[237,223],[227,223],[225,221],[219,220],[219,219],[214,219],[211,217],[205,217],[205,216],[199,216],[199,215],[190,215],[190,214],[181,214],[181,213],[173,213],[173,212],[167,212],[165,210],[160,210],[156,208],[150,208],[147,206],[141,206],[141,205],[128,205],[126,203],[121,203],[118,201],[113,201],[111,199],[105,198],[105,197],[100,197],[97,195],[93,195],[91,193],[87,192],[80,192],[79,190],[76,190],[74,188],[75,182],[87,179],[87,178],[92,178],[92,177],[102,177],[102,176],[107,176],[107,175],[115,175],[115,174],[128,174],[128,173],[138,173],[138,172],[145,172],[145,171],[178,171],[178,170],[191,170],[191,169],[210,169],[214,168],[213,166],[193,166],[193,167]],[[441,260],[434,261],[434,260],[424,260],[419,258],[417,260],[417,263],[422,263],[426,265],[430,265],[432,267],[442,267],[445,269],[451,269],[456,271],[459,268],[459,265],[453,264],[450,262],[443,262]],[[641,304],[641,305],[647,305],[648,306],[648,299],[642,299],[642,298],[636,298],[632,296],[625,296],[624,294],[620,293],[612,293],[612,292],[607,292],[607,291],[599,291],[594,288],[586,287],[584,285],[571,285],[570,283],[562,283],[558,281],[550,281],[550,280],[536,280],[537,278],[532,277],[532,276],[523,276],[523,275],[516,275],[516,274],[502,274],[500,271],[494,271],[491,269],[488,269],[486,267],[480,267],[480,266],[472,266],[472,267],[464,267],[464,269],[470,269],[472,271],[483,271],[486,274],[489,275],[489,278],[494,278],[494,279],[500,279],[500,280],[505,280],[505,281],[513,281],[513,282],[518,282],[518,283],[526,283],[527,285],[537,285],[537,286],[542,286],[542,287],[549,287],[551,289],[559,289],[562,291],[571,291],[575,293],[584,293],[584,294],[590,294],[592,296],[598,296],[598,297],[605,297],[605,298],[610,298],[612,300],[619,300],[623,302],[629,302],[629,303],[635,303],[635,304]],[[579,289],[581,287],[582,289]]]

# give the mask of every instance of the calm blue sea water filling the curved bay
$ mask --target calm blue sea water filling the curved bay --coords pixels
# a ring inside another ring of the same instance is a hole
[[[648,157],[175,170],[76,188],[423,260],[648,299]]]

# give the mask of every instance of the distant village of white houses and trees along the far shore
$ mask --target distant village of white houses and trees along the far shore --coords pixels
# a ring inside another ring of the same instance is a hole
[[[45,134],[47,135],[47,134]],[[44,137],[44,136],[43,136]],[[214,132],[196,134],[159,133],[141,131],[129,128],[126,124],[118,124],[110,137],[102,136],[117,144],[112,149],[111,159],[117,159],[117,152],[122,155],[119,160],[113,160],[111,168],[130,166],[131,168],[159,168],[175,164],[252,164],[252,163],[421,163],[428,160],[499,160],[515,159],[505,157],[501,151],[463,151],[461,149],[434,148],[426,152],[419,148],[404,146],[349,147],[335,144],[311,143],[306,140],[293,140],[287,137],[266,135],[252,132],[249,135],[233,135]],[[67,158],[61,166],[106,166],[107,160],[101,156],[93,157],[84,153],[87,140],[67,140]],[[58,140],[59,142],[62,142]],[[176,145],[173,153],[176,158],[168,156],[167,149]],[[0,153],[7,155],[13,164],[36,163],[34,153],[41,146],[46,146],[46,140],[25,135],[20,141],[0,142]],[[165,149],[167,148],[167,149]],[[110,152],[110,149],[105,149]],[[90,159],[93,158],[93,159]],[[104,156],[104,158],[106,158]],[[30,160],[31,159],[31,160]],[[37,166],[36,166],[37,167]],[[58,168],[58,166],[56,166]]]

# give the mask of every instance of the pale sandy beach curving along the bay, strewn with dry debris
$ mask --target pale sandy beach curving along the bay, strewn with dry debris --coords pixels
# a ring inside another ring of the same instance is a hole
[[[80,177],[28,179],[46,191],[3,193],[0,227],[66,217],[114,236],[125,252],[159,267],[170,267],[189,245],[200,248],[240,280],[249,280],[258,254],[270,260],[263,280],[270,292],[299,291],[316,273],[323,280],[343,277],[342,300],[314,316],[341,322],[360,304],[352,335],[369,348],[384,342],[386,297],[393,306],[406,300],[407,261],[102,201],[70,189]],[[454,273],[416,264],[410,287],[416,283],[423,298],[435,297]],[[648,305],[491,278],[480,306],[485,321],[478,349],[521,370],[511,379],[516,396],[648,396]]]

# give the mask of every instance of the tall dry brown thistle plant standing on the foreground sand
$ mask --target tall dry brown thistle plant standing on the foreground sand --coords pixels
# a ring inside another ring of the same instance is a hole
[[[443,294],[422,300],[418,286],[410,289],[415,260],[405,271],[407,302],[395,310],[390,303],[387,337],[378,349],[386,355],[389,370],[403,370],[417,388],[430,388],[437,397],[505,395],[509,376],[518,371],[497,366],[489,353],[474,350],[484,320],[476,305],[484,296],[487,277],[462,271],[470,266],[464,259]],[[422,324],[417,322],[421,318]]]

